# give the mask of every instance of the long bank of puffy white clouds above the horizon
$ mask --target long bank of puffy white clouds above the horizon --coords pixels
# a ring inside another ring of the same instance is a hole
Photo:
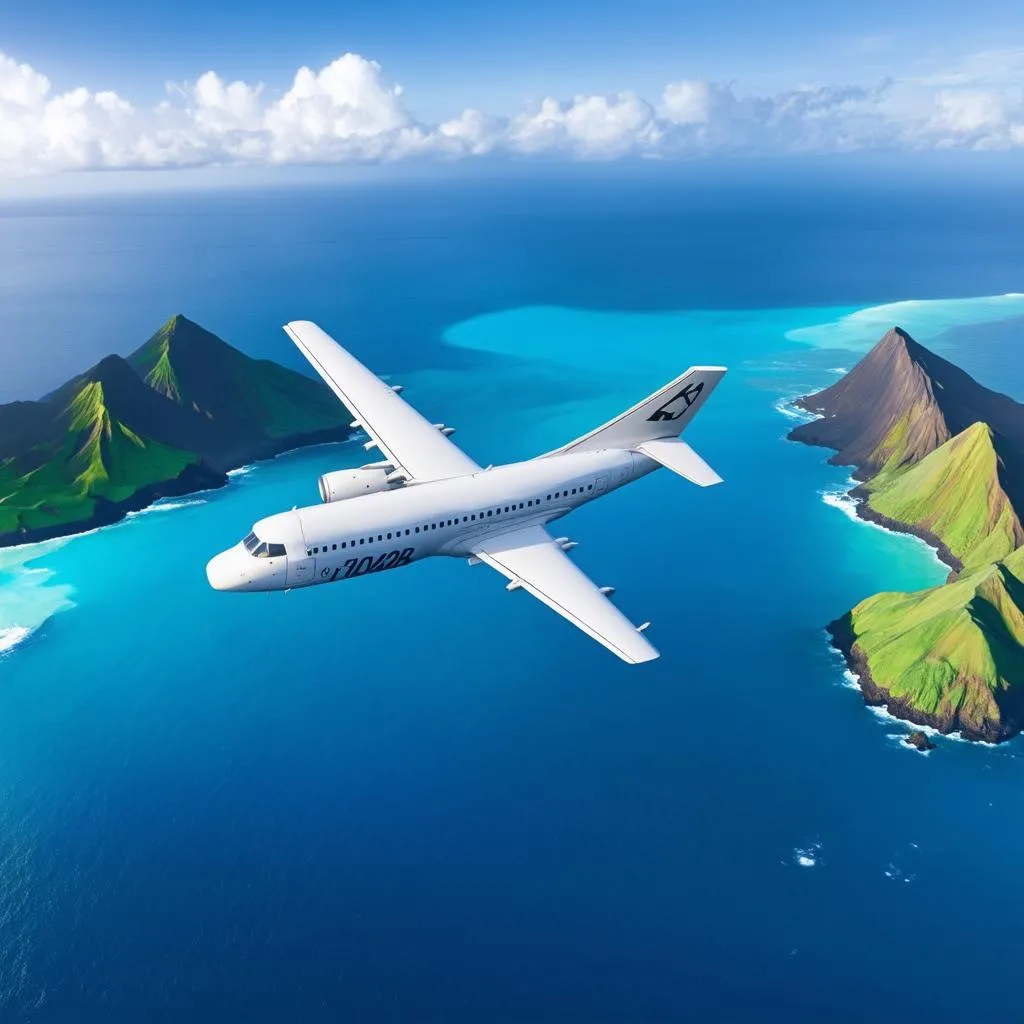
[[[982,81],[985,61],[971,58],[946,75],[873,88],[744,94],[733,83],[679,79],[654,102],[634,92],[548,97],[507,116],[470,109],[430,125],[378,63],[355,53],[300,68],[276,93],[208,71],[145,108],[112,91],[55,92],[41,72],[0,53],[0,175],[487,154],[611,160],[1021,146],[1024,91],[1014,76],[1024,65],[1019,51],[989,59],[990,74],[995,63],[997,84]]]

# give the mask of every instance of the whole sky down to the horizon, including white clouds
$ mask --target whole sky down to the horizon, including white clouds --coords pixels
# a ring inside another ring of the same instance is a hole
[[[1008,0],[70,0],[0,18],[3,181],[1024,146]]]

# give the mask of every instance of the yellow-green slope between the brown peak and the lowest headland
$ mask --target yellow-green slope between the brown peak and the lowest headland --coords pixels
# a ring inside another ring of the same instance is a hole
[[[936,538],[971,570],[1024,544],[1024,528],[999,482],[992,432],[975,423],[920,462],[883,469],[863,485],[884,519]]]

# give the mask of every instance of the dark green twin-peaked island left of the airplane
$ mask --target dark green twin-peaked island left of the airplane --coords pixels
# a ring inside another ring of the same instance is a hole
[[[319,380],[180,313],[38,401],[0,406],[0,547],[105,525],[230,469],[351,434]]]

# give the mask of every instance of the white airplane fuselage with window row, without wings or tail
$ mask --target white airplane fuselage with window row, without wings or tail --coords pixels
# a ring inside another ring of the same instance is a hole
[[[261,519],[207,566],[217,590],[335,583],[430,555],[471,557],[490,534],[549,523],[657,463],[608,449],[551,456],[310,505]]]

